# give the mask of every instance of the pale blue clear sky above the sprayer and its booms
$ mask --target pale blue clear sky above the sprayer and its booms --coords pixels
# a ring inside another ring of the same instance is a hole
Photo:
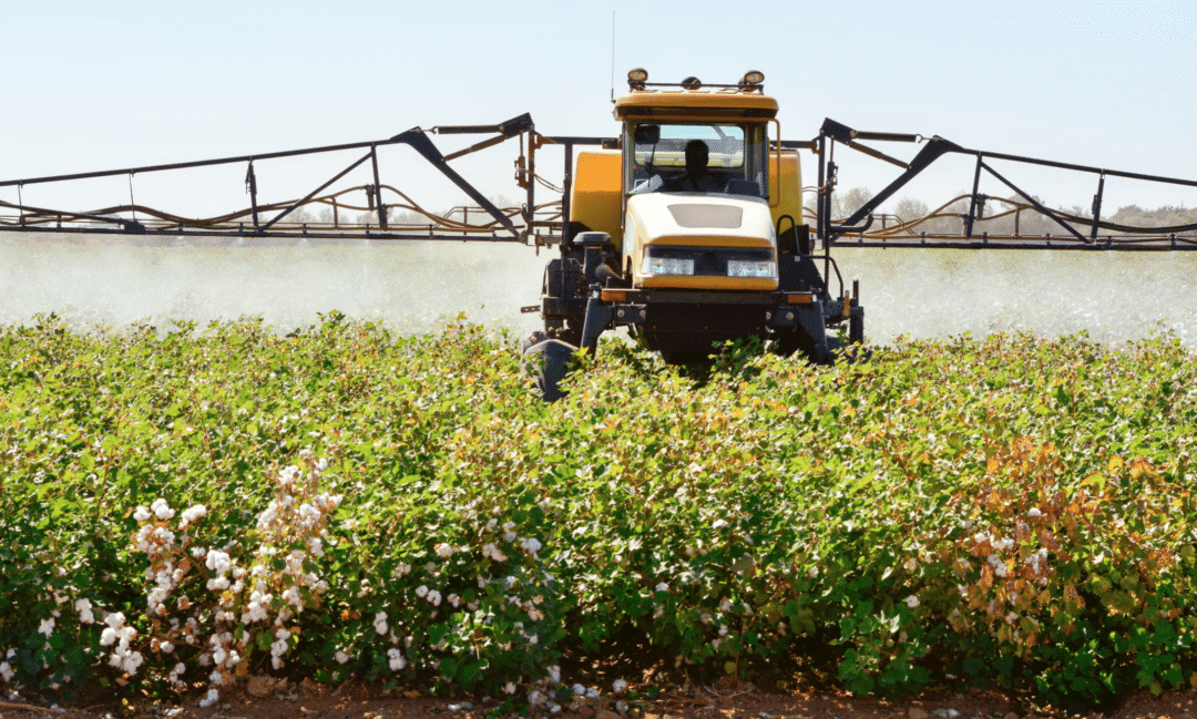
[[[548,135],[614,136],[613,68],[618,93],[632,67],[646,68],[650,80],[707,83],[759,69],[789,140],[816,136],[832,117],[858,129],[1197,179],[1197,2],[747,10],[622,0],[0,0],[0,179],[384,139],[522,112]],[[488,195],[516,196],[512,147],[455,166]],[[877,147],[905,158],[917,150]],[[841,188],[876,191],[895,175],[851,154],[837,154]],[[263,199],[315,189],[356,157],[263,163]],[[560,176],[559,154],[540,159],[547,176]],[[802,160],[813,184],[813,157]],[[390,148],[381,163],[384,182],[418,200],[454,201],[409,151]],[[1088,207],[1096,190],[1095,177],[1002,167],[1055,206]],[[248,205],[243,178],[243,166],[170,181],[138,176],[132,193],[202,214]],[[971,181],[967,159],[948,163],[898,197],[935,207]],[[124,177],[23,193],[30,205],[78,209],[124,202],[129,184]],[[0,188],[0,199],[16,201],[17,193]],[[1107,182],[1106,207],[1130,203],[1197,207],[1197,188]]]

